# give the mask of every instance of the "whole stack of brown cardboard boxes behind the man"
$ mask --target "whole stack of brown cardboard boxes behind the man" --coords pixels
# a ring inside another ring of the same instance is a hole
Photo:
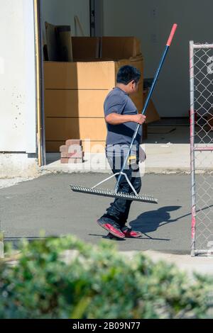
[[[131,98],[139,111],[143,109],[139,42],[136,38],[72,38],[72,50],[74,62],[44,64],[46,149],[58,152],[71,137],[82,140],[85,152],[104,152],[104,100],[116,86],[119,68],[126,64],[141,71],[138,93]]]

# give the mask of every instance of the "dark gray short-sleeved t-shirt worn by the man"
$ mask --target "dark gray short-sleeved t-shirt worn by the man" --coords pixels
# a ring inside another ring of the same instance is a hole
[[[114,88],[104,102],[104,115],[110,113],[119,115],[136,115],[137,108],[128,94],[122,89]],[[107,123],[107,146],[109,145],[131,145],[133,134],[137,123],[129,122],[120,125],[110,125]],[[139,130],[134,145],[141,143],[141,130]]]

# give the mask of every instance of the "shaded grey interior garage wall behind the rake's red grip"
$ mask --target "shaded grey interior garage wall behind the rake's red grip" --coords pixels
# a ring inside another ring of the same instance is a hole
[[[104,35],[140,38],[146,77],[153,77],[171,26],[179,25],[154,94],[161,116],[188,115],[189,41],[213,42],[212,11],[212,0],[104,0]]]

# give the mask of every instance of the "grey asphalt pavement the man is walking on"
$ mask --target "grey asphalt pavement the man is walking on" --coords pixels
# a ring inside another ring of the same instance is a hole
[[[72,193],[69,184],[92,186],[102,174],[52,174],[0,190],[1,230],[5,236],[38,237],[73,234],[97,244],[107,232],[97,225],[110,198]],[[109,188],[114,186],[110,181]],[[121,251],[154,250],[190,254],[190,176],[146,175],[143,191],[158,205],[133,203],[129,222],[143,232],[142,239],[116,242]]]

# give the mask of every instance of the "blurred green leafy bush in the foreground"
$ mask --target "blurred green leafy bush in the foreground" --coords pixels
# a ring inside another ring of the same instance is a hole
[[[24,242],[19,250],[15,266],[0,261],[0,318],[209,316],[213,278],[192,281],[143,254],[130,260],[107,242],[94,247],[74,237]]]

